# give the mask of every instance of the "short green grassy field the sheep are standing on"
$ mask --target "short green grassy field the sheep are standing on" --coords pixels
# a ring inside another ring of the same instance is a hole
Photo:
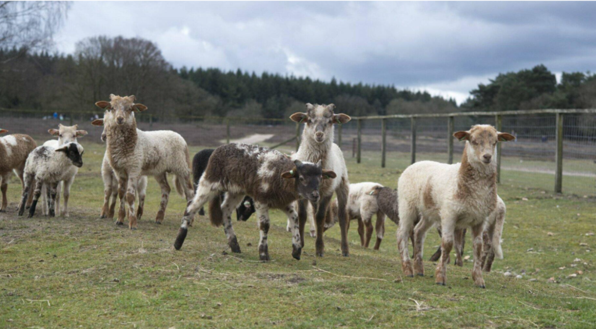
[[[83,145],[85,165],[73,185],[70,218],[18,218],[20,186],[17,179],[9,185],[10,211],[0,214],[0,328],[596,325],[593,198],[552,195],[552,184],[527,189],[509,177],[513,181],[499,187],[508,207],[505,259],[495,260],[494,271],[485,274],[486,290],[474,287],[471,259],[463,268],[449,265],[448,286],[441,287],[430,275],[402,278],[392,222],[378,252],[359,246],[352,225],[350,257],[340,256],[336,225],[326,234],[324,258],[313,256],[314,241],[307,237],[302,260],[296,261],[286,219],[274,211],[269,235],[274,260],[261,263],[254,217],[234,222],[241,254],[230,253],[223,229],[200,218],[176,252],[172,244],[183,198],[172,195],[164,224],[154,224],[160,193],[150,179],[137,231],[98,219],[104,149]],[[346,160],[350,181],[395,187],[409,158],[390,157],[387,169],[366,153],[360,165]],[[429,231],[426,259],[437,244],[438,235]],[[471,256],[469,245],[465,255]],[[425,266],[434,273],[433,263]]]

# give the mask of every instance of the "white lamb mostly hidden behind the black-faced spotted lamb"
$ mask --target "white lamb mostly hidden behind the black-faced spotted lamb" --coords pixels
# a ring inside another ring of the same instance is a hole
[[[59,148],[60,145],[64,145],[70,142],[78,142],[78,137],[83,137],[87,135],[86,131],[78,130],[79,126],[64,126],[62,124],[58,124],[58,129],[49,129],[48,133],[52,136],[58,136],[58,139],[51,139],[44,143],[45,146]],[[69,197],[70,197],[70,187],[72,186],[73,182],[75,181],[75,176],[79,172],[79,169],[75,166],[70,166],[70,171],[67,175],[65,175],[64,180],[58,184],[58,188],[56,190],[56,205],[55,205],[55,213],[56,216],[60,216],[60,191],[64,190],[64,207],[63,207],[63,215],[64,217],[69,217]],[[46,193],[47,186],[44,185],[41,190],[42,195],[42,209],[44,211],[44,215],[48,215],[48,204],[49,200],[47,199]]]

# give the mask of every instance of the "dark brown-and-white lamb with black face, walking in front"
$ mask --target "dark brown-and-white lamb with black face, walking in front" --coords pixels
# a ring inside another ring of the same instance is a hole
[[[321,180],[333,178],[336,178],[336,173],[322,169],[321,162],[315,165],[292,161],[279,151],[258,145],[222,145],[213,152],[198,182],[197,193],[184,213],[174,247],[176,250],[182,247],[195,213],[207,201],[226,192],[224,203],[221,204],[222,216],[215,218],[210,213],[210,219],[216,226],[223,222],[232,252],[240,253],[240,246],[232,228],[231,213],[244,195],[250,195],[254,200],[260,230],[259,259],[270,260],[267,244],[269,209],[281,209],[291,219],[292,256],[300,259],[302,244],[294,201],[302,197],[316,203]]]

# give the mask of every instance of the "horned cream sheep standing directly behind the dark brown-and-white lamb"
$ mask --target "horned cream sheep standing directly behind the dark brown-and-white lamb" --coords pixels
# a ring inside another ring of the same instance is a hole
[[[342,125],[350,121],[346,114],[334,114],[334,104],[312,105],[306,104],[306,113],[294,113],[290,119],[294,122],[305,122],[300,141],[300,147],[292,159],[316,163],[321,161],[324,169],[333,170],[337,178],[324,181],[321,185],[321,198],[313,204],[316,219],[316,252],[315,256],[322,257],[324,253],[323,232],[325,214],[333,197],[337,194],[339,206],[339,225],[342,232],[342,255],[349,256],[347,245],[347,196],[350,182],[347,178],[346,162],[342,150],[333,143],[333,125]],[[299,201],[300,240],[304,246],[304,226],[306,224],[306,200]]]

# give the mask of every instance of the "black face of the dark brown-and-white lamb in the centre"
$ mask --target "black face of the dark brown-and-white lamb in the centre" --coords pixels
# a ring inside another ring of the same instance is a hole
[[[316,165],[311,162],[294,160],[294,165],[296,165],[294,169],[282,173],[281,176],[285,179],[294,179],[296,190],[300,197],[312,202],[319,201],[321,179],[333,179],[337,177],[333,171],[323,170],[320,160]]]

